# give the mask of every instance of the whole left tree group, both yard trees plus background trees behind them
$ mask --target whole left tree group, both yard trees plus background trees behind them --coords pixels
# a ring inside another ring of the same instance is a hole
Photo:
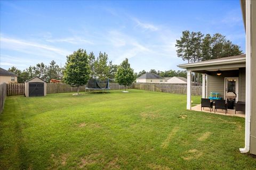
[[[106,53],[99,53],[95,57],[94,53],[87,54],[86,50],[78,49],[73,54],[67,56],[67,62],[64,67],[51,61],[49,65],[38,63],[35,66],[29,66],[21,71],[17,67],[12,66],[8,71],[18,75],[18,83],[24,83],[34,77],[38,77],[45,82],[51,79],[62,80],[73,87],[85,85],[89,79],[99,79],[116,81],[119,84],[130,86],[135,80],[135,74],[131,68],[128,59],[120,64],[108,62]],[[79,88],[77,88],[79,90]]]

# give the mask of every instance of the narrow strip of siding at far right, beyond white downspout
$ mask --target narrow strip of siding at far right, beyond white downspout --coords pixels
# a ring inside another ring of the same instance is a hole
[[[251,105],[251,154],[256,155],[256,1],[251,1],[251,45],[252,45],[252,105]]]

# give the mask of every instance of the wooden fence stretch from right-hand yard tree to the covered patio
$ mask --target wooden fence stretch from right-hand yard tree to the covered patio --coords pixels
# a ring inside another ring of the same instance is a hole
[[[170,94],[187,94],[187,85],[177,84],[155,84],[155,83],[133,83],[134,89],[168,92]],[[191,95],[201,96],[202,86],[191,86]]]

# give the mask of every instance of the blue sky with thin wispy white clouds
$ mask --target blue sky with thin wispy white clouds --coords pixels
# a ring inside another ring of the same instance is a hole
[[[78,48],[129,58],[135,72],[180,70],[183,30],[222,33],[245,51],[239,1],[1,1],[0,66],[65,65]]]

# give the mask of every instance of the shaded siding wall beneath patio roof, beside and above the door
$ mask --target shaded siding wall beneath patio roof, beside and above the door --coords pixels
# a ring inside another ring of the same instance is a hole
[[[222,97],[224,99],[225,78],[239,77],[239,70],[225,71],[225,72],[222,72],[221,75],[217,75],[216,72],[211,72],[207,76],[208,76],[208,82],[207,82],[208,96],[210,96],[211,92],[218,92],[220,94],[219,97]]]

